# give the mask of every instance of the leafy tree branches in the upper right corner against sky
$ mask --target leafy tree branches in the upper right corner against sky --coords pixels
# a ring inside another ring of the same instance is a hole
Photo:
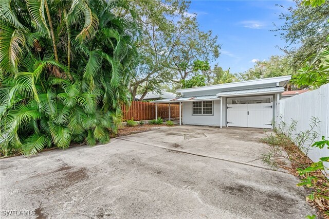
[[[289,13],[280,15],[280,19],[285,21],[284,25],[274,31],[289,43],[281,49],[291,57],[291,65],[297,70],[303,66],[304,60],[329,46],[326,40],[329,35],[329,2],[303,1],[301,4],[296,0],[296,7],[288,10]]]

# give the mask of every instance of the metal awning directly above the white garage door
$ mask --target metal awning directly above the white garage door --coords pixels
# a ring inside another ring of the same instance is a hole
[[[247,90],[232,90],[218,93],[217,97],[234,97],[234,96],[249,96],[249,95],[262,95],[262,94],[277,94],[284,92],[283,87],[266,87],[258,89]]]

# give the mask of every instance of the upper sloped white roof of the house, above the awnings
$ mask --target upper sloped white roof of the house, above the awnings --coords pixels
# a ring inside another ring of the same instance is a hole
[[[256,89],[256,88],[264,88],[264,87],[284,87],[288,81],[291,79],[291,76],[281,76],[281,77],[274,77],[274,78],[263,78],[257,80],[250,80],[250,81],[240,81],[240,82],[232,82],[226,84],[216,84],[210,86],[203,86],[203,87],[194,87],[194,88],[187,88],[187,89],[178,89],[177,92],[180,92],[183,96],[188,93],[211,93],[215,92],[214,94],[220,93],[222,91],[231,91],[231,90],[241,90],[241,89]]]

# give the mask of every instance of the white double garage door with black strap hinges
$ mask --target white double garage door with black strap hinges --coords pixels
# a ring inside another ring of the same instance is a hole
[[[272,103],[227,104],[227,126],[271,129]]]

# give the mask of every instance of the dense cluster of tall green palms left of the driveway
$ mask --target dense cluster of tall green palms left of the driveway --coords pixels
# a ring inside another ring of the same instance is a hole
[[[0,2],[0,152],[108,142],[136,64],[128,1]]]

